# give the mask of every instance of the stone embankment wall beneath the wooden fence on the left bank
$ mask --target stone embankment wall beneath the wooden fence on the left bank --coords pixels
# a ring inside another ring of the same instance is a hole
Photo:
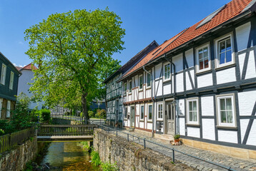
[[[12,150],[3,152],[0,156],[0,170],[24,170],[26,162],[36,157],[37,150],[37,139],[34,137]]]

